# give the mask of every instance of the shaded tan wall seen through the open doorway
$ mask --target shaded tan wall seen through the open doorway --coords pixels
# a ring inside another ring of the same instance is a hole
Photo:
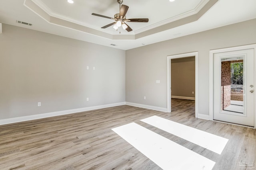
[[[195,57],[171,60],[172,96],[195,97]]]

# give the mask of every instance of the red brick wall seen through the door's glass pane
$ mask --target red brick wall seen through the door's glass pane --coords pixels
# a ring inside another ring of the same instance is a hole
[[[221,62],[221,108],[222,110],[230,106],[231,80],[230,61]]]

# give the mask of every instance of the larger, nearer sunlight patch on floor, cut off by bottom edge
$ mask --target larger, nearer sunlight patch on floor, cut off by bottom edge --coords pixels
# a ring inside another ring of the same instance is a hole
[[[163,170],[212,170],[215,164],[214,161],[136,123],[112,130]]]

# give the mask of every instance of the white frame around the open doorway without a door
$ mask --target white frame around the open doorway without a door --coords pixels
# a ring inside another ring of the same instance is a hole
[[[198,117],[198,51],[167,56],[167,112],[171,112],[171,59],[195,57],[195,117]]]

